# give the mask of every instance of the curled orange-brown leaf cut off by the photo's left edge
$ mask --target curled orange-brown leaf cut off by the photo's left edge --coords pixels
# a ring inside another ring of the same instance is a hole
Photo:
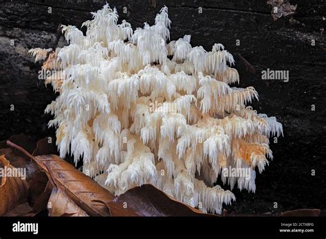
[[[0,156],[0,168],[14,169],[9,161]],[[0,216],[3,216],[14,209],[17,205],[26,200],[28,184],[21,177],[0,177]]]

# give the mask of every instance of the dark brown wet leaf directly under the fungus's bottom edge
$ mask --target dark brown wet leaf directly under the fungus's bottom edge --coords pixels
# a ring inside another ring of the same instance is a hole
[[[151,184],[133,187],[107,206],[111,216],[214,216],[175,201]]]

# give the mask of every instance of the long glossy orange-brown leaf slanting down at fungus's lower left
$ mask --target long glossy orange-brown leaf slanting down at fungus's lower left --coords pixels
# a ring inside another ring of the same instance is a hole
[[[34,159],[49,178],[51,175],[47,168],[50,168],[58,188],[89,216],[110,216],[105,203],[112,201],[114,196],[108,190],[56,155],[36,156]]]

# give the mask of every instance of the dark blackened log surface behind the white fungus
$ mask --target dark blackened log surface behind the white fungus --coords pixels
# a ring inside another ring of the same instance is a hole
[[[277,144],[270,139],[274,160],[257,176],[256,194],[234,190],[237,201],[227,207],[228,212],[325,209],[325,1],[290,1],[297,4],[296,14],[292,20],[286,16],[277,21],[265,0],[107,1],[118,9],[120,21],[126,19],[134,30],[144,22],[153,24],[155,14],[166,5],[172,40],[191,34],[191,44],[208,51],[214,43],[224,44],[235,56],[239,86],[253,86],[259,92],[254,109],[276,116],[283,124],[284,137]],[[54,136],[54,128],[47,128],[51,116],[43,111],[56,95],[38,80],[41,65],[34,64],[27,52],[52,47],[60,23],[80,27],[91,18],[89,12],[104,4],[99,0],[0,0],[0,140],[18,133],[35,139]],[[240,46],[235,44],[237,39]],[[59,45],[63,44],[61,37]],[[267,68],[290,71],[290,81],[261,80],[261,71]]]

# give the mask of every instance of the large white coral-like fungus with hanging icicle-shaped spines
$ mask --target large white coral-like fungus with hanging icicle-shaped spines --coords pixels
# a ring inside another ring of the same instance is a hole
[[[283,135],[275,117],[248,106],[253,87],[239,84],[235,60],[224,45],[210,52],[191,36],[170,40],[164,6],[155,24],[133,31],[109,4],[62,31],[69,45],[30,50],[58,98],[54,115],[61,157],[83,160],[83,172],[113,194],[151,183],[203,212],[220,214],[235,195],[255,192],[256,171],[272,159],[269,137]]]

